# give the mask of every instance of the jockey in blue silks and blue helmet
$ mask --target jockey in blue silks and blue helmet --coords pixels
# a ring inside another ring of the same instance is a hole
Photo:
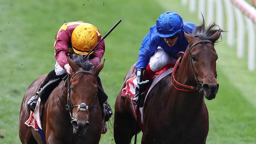
[[[153,77],[155,72],[165,65],[175,64],[178,52],[185,52],[188,45],[183,31],[192,33],[195,27],[195,24],[184,22],[180,15],[173,11],[167,11],[158,17],[156,24],[143,39],[139,50],[136,63],[138,86],[148,83],[148,80],[139,82],[141,67],[147,67],[145,71],[147,76]],[[134,101],[137,101],[137,94]]]

